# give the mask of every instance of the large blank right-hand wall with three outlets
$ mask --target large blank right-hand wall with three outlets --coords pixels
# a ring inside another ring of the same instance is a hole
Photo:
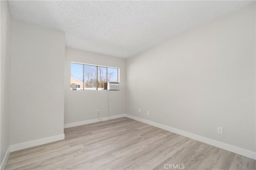
[[[255,45],[252,3],[129,58],[127,113],[255,152]]]

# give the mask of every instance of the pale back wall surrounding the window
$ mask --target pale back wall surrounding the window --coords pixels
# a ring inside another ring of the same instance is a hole
[[[100,47],[99,47],[100,48]],[[66,48],[65,65],[65,114],[64,123],[74,123],[108,116],[108,95],[110,115],[126,111],[126,60],[72,48]],[[120,90],[70,90],[70,63],[86,63],[120,68]]]

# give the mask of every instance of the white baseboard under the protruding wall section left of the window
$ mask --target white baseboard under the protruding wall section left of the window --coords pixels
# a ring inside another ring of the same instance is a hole
[[[61,134],[61,135],[46,137],[46,138],[37,139],[37,140],[34,140],[34,141],[18,143],[18,144],[15,144],[15,145],[11,145],[10,148],[11,148],[11,152],[13,152],[13,151],[16,151],[16,150],[35,147],[35,146],[38,146],[38,145],[43,145],[43,144],[46,144],[46,143],[59,141],[59,140],[62,140],[62,139],[65,139],[65,134],[64,133]]]

